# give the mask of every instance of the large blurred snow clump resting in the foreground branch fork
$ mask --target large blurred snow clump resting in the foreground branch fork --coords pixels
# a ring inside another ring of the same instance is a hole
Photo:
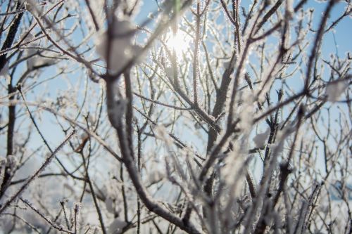
[[[116,73],[121,72],[122,68],[139,53],[140,47],[132,44],[134,27],[130,21],[115,18],[112,31],[110,48],[108,48],[108,32],[103,32],[96,43],[96,53],[110,63],[111,70]],[[109,59],[106,58],[108,51]]]

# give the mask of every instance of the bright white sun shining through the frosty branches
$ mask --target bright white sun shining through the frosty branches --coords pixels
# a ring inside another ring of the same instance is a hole
[[[187,51],[189,41],[189,35],[181,30],[178,30],[176,34],[168,32],[166,36],[166,46],[168,46],[170,51],[175,51],[177,58],[182,57],[182,53]]]

